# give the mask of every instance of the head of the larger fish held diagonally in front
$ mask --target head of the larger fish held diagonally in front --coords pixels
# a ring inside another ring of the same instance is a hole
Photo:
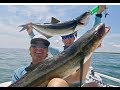
[[[110,31],[110,28],[106,28],[104,23],[100,23],[97,26],[94,26],[91,30],[86,32],[87,37],[86,40],[84,40],[84,45],[82,47],[82,52],[85,52],[86,54],[93,53],[99,45],[102,43],[103,38],[108,34]]]

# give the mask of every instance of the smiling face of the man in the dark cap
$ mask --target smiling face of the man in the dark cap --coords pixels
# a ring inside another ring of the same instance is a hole
[[[30,47],[30,55],[32,57],[33,64],[43,62],[48,56],[48,48]]]

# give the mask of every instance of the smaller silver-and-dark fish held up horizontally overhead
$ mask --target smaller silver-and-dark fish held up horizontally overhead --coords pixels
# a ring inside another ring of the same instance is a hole
[[[33,28],[39,32],[40,34],[44,35],[46,38],[53,37],[55,35],[68,35],[71,33],[75,33],[78,30],[82,29],[85,25],[87,25],[90,18],[90,12],[85,12],[79,17],[61,23],[59,20],[52,18],[51,23],[45,24],[35,24],[32,23]],[[23,31],[27,28],[27,24],[20,25],[23,27],[20,31]]]

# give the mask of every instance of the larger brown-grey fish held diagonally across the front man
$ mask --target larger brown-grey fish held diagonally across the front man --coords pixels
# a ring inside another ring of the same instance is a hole
[[[108,32],[105,24],[100,23],[88,30],[59,55],[37,64],[9,87],[46,87],[54,77],[66,78],[80,68],[81,61],[86,62],[90,58]]]

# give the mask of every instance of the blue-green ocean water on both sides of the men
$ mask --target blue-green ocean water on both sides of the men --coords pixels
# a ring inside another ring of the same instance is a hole
[[[0,83],[10,81],[15,69],[30,62],[31,57],[27,49],[0,48]],[[96,72],[120,79],[119,53],[94,53],[91,65]],[[105,78],[103,78],[103,82],[120,86],[120,83]]]

